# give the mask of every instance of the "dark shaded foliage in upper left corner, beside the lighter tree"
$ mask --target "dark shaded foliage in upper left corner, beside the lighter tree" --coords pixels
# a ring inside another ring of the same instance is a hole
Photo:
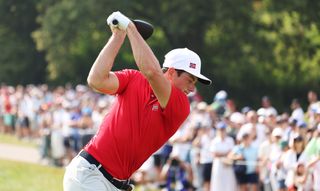
[[[0,81],[9,84],[45,80],[44,56],[35,49],[36,1],[0,0]]]

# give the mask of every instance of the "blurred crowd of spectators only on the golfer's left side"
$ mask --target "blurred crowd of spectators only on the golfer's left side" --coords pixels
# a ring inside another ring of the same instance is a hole
[[[0,133],[37,141],[42,162],[66,165],[91,139],[114,97],[87,86],[2,86]]]

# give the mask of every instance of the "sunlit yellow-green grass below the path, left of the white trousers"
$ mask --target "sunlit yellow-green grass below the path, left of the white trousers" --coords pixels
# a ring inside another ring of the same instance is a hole
[[[63,168],[0,160],[1,191],[62,191]]]

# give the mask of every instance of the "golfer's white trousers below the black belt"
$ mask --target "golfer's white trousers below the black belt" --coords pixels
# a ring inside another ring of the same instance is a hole
[[[119,191],[99,169],[81,156],[76,156],[66,167],[64,191]]]

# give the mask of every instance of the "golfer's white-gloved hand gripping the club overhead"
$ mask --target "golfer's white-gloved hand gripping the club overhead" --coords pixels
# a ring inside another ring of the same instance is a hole
[[[107,19],[107,24],[112,28],[119,28],[126,30],[131,20],[120,13],[119,11],[113,12]]]

